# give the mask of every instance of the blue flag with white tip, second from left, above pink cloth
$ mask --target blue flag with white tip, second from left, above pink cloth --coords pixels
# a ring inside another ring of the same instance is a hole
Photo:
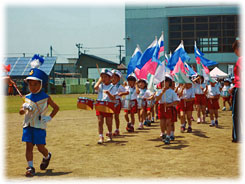
[[[144,51],[144,53],[141,55],[139,60],[137,61],[136,68],[141,69],[143,66],[150,60],[152,60],[153,54],[155,52],[157,44],[157,37],[155,40],[151,43],[151,45]]]

